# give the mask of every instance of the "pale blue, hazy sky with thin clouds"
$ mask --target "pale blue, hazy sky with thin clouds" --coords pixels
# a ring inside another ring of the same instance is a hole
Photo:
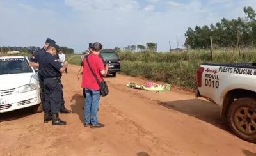
[[[44,45],[52,38],[75,52],[157,43],[184,48],[188,27],[244,18],[255,0],[0,0],[0,46]]]

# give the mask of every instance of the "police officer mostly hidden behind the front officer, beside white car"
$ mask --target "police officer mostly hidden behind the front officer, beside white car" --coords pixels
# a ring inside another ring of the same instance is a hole
[[[49,46],[49,43],[56,43],[54,40],[52,40],[51,38],[47,38],[45,41],[45,45],[42,49],[40,49],[39,51],[36,51],[34,54],[32,54],[31,58],[30,58],[30,63],[29,66],[38,68],[38,77],[39,77],[39,85],[40,85],[40,96],[41,96],[41,103],[42,103],[42,107],[44,109],[44,77],[42,77],[42,75],[40,74],[40,66],[39,66],[39,60],[40,58],[42,58],[42,56],[44,56],[44,54],[46,53],[46,50]],[[56,57],[57,59],[59,59],[58,54],[55,54],[54,57]],[[65,107],[65,101],[63,99],[63,91],[61,93],[62,96],[62,100],[61,100],[61,110],[60,113],[71,113],[70,110],[68,110]],[[45,123],[47,123],[47,121],[45,120]]]

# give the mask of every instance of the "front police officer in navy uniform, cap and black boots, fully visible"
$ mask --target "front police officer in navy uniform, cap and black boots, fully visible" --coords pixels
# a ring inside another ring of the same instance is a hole
[[[67,61],[63,66],[56,58],[59,46],[55,43],[49,43],[49,47],[42,58],[39,60],[40,74],[44,77],[44,118],[48,121],[50,113],[52,113],[52,125],[66,125],[65,121],[60,120],[58,113],[61,109],[61,72],[67,68]]]

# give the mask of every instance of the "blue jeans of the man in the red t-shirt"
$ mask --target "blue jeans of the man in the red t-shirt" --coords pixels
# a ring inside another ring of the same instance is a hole
[[[98,123],[98,107],[100,100],[99,90],[88,90],[85,88],[86,100],[84,103],[84,123],[96,125]],[[90,116],[92,115],[92,118]]]

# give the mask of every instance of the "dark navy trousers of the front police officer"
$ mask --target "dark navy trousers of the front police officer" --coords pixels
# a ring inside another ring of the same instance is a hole
[[[59,113],[61,107],[61,81],[56,82],[54,78],[44,79],[44,111],[51,111],[52,113]]]

